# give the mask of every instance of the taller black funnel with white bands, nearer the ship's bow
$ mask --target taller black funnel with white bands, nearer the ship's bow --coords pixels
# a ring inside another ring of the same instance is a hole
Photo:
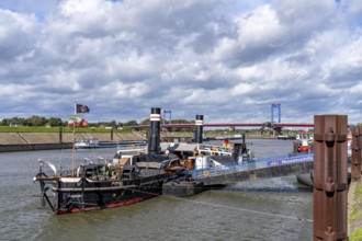
[[[161,108],[152,107],[149,117],[150,133],[148,137],[148,153],[156,154],[161,150],[160,128],[161,128]]]

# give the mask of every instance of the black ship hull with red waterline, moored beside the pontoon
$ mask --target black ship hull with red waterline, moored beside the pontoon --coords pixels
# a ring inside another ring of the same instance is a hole
[[[156,197],[162,194],[162,184],[169,180],[167,173],[127,181],[60,177],[52,182],[53,195],[46,192],[44,195],[56,214],[73,214],[121,207]]]

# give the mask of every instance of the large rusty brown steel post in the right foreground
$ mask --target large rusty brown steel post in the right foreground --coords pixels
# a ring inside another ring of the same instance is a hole
[[[314,117],[314,240],[347,237],[347,116]]]

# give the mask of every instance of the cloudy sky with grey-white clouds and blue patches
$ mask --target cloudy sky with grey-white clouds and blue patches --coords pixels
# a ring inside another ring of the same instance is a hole
[[[362,1],[0,0],[0,118],[355,124]]]

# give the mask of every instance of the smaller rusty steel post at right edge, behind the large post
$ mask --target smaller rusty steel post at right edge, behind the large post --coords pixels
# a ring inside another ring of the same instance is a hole
[[[361,180],[361,144],[362,144],[362,128],[352,128],[352,157],[351,157],[351,177],[352,181]]]

